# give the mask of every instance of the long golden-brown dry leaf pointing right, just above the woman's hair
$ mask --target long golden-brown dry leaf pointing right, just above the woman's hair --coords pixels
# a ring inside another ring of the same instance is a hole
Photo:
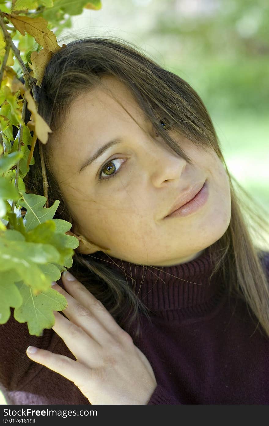
[[[34,40],[40,46],[48,49],[50,52],[55,52],[60,49],[57,43],[56,36],[47,28],[48,21],[43,17],[20,16],[16,14],[3,13],[21,35],[27,34],[34,37]]]

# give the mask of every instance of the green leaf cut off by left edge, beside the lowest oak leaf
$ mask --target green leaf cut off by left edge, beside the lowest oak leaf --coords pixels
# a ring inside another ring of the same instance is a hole
[[[19,308],[23,298],[15,285],[20,277],[15,271],[1,273],[0,281],[0,324],[5,324],[10,317],[10,307]]]

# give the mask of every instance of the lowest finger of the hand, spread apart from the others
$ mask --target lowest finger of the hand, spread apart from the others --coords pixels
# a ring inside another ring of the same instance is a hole
[[[36,350],[34,353],[29,351],[29,349],[31,350],[32,348]],[[83,366],[65,355],[54,354],[45,349],[35,348],[34,346],[29,346],[26,350],[26,354],[35,363],[42,364],[50,370],[55,371],[55,373],[61,374],[61,376],[71,380],[76,386],[79,386],[80,383],[85,383],[87,376],[89,376],[89,378],[91,376],[90,368]]]

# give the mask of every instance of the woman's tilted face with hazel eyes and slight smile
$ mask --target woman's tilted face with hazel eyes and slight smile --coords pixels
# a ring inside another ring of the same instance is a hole
[[[188,164],[161,143],[123,83],[114,77],[102,82],[131,116],[99,86],[72,103],[52,143],[51,167],[76,232],[132,263],[169,266],[195,259],[229,226],[230,187],[223,164],[214,150],[198,150],[171,132],[192,159],[193,165]],[[116,138],[118,144],[80,171]],[[181,194],[205,180],[209,196],[203,207],[188,216],[165,218]]]

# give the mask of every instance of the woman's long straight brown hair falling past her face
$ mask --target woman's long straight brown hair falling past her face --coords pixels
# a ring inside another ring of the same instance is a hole
[[[220,271],[229,294],[246,302],[249,314],[254,314],[253,319],[258,320],[269,337],[269,285],[265,264],[261,262],[265,252],[255,245],[255,238],[263,239],[264,232],[268,231],[269,222],[263,219],[262,213],[257,210],[257,203],[229,173],[211,118],[199,95],[186,81],[160,67],[131,43],[116,38],[75,40],[54,53],[46,67],[37,92],[37,104],[39,114],[54,133],[49,135],[47,145],[39,145],[46,162],[49,204],[55,199],[60,200],[55,217],[74,224],[49,167],[53,135],[64,123],[72,100],[99,85],[104,75],[114,76],[126,84],[146,118],[158,129],[163,143],[187,162],[192,163],[169,132],[160,126],[160,119],[168,124],[169,129],[192,141],[197,148],[213,149],[217,153],[229,176],[231,220],[224,235],[209,247],[210,259],[214,259],[210,280]],[[30,166],[25,179],[26,188],[29,192],[43,195],[40,152],[37,148],[34,158],[35,164]],[[268,212],[264,213],[268,215]],[[120,326],[128,329],[135,319],[139,319],[140,313],[149,317],[149,311],[133,293],[126,277],[113,271],[109,265],[98,263],[94,253],[75,253],[69,270],[105,305]],[[135,335],[138,335],[139,329],[138,321]]]

